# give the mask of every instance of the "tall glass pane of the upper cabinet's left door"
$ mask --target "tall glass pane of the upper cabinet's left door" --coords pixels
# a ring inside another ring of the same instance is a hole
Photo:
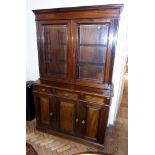
[[[45,62],[48,75],[67,76],[67,25],[45,25]]]

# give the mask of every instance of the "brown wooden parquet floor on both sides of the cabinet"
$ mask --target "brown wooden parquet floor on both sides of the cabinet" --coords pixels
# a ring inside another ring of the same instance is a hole
[[[72,155],[80,152],[97,151],[95,148],[68,139],[39,132],[35,120],[26,123],[26,141],[34,147],[38,155]],[[128,154],[128,80],[125,81],[123,98],[115,127],[107,128],[105,153]]]

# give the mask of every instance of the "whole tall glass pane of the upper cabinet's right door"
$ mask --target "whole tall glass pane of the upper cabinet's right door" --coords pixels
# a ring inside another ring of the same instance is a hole
[[[85,24],[78,27],[78,79],[103,82],[108,28],[108,24]]]

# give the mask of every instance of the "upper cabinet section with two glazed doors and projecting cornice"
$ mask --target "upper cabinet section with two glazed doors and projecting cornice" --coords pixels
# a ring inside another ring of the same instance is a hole
[[[40,80],[111,84],[123,5],[34,10]]]

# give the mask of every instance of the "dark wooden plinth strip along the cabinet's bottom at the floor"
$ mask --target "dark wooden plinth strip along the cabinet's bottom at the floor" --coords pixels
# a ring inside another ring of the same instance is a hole
[[[103,150],[103,148],[104,148],[104,145],[102,145],[102,144],[91,142],[91,141],[87,141],[85,139],[82,139],[82,138],[79,138],[79,137],[75,137],[75,136],[72,136],[72,135],[69,135],[69,134],[64,134],[64,133],[61,133],[61,132],[58,132],[58,131],[55,131],[55,130],[50,130],[48,128],[36,126],[36,129],[39,130],[39,131],[43,131],[43,132],[46,132],[46,133],[49,133],[49,134],[53,134],[53,135],[59,136],[59,137],[67,138],[67,139],[70,139],[70,140],[74,140],[76,142],[85,144],[85,145],[90,146],[90,147],[95,147],[95,148],[100,149],[100,150]]]

